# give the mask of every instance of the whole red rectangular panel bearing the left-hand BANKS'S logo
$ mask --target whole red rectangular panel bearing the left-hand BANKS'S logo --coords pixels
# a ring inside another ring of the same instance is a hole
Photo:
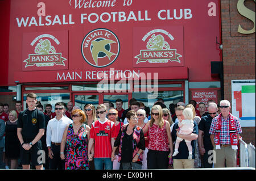
[[[65,70],[67,58],[68,31],[23,34],[23,70]]]

